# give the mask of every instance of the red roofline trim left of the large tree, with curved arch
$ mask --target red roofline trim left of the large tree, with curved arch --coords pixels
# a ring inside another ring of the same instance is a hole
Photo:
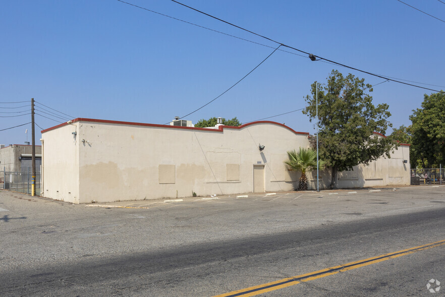
[[[277,122],[272,122],[272,121],[256,121],[256,122],[251,122],[251,123],[247,123],[238,127],[235,126],[224,126],[221,125],[218,127],[218,129],[213,129],[213,128],[198,128],[198,127],[181,127],[181,126],[171,126],[171,125],[159,125],[159,124],[147,124],[147,123],[135,123],[135,122],[122,122],[122,121],[109,121],[109,120],[98,120],[98,119],[87,119],[87,118],[76,118],[74,120],[71,121],[72,123],[75,122],[93,122],[93,123],[105,123],[105,124],[120,124],[120,125],[132,125],[132,126],[143,126],[143,127],[157,127],[157,128],[173,128],[173,129],[187,129],[187,130],[201,130],[201,131],[215,131],[215,132],[222,132],[224,129],[242,129],[244,127],[250,126],[250,125],[256,125],[256,124],[274,124],[274,125],[278,125],[278,126],[282,126],[292,132],[294,132],[295,134],[298,135],[307,135],[309,136],[308,132],[297,132],[294,129],[284,125],[284,124],[280,124]],[[59,127],[63,127],[66,125],[70,125],[68,123],[62,123],[59,124],[57,126],[42,130],[41,133],[45,133],[54,129],[57,129]]]

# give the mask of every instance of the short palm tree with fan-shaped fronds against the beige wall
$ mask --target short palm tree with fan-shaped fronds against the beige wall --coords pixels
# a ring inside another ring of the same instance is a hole
[[[317,168],[317,152],[312,149],[304,149],[300,147],[300,150],[288,152],[289,160],[285,163],[293,171],[300,171],[301,177],[297,191],[307,190],[307,177],[306,172]],[[318,160],[318,168],[324,167],[325,161]]]

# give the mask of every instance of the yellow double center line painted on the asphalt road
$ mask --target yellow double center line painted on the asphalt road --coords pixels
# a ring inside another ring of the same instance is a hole
[[[390,253],[390,254],[380,255],[377,257],[372,257],[372,258],[368,258],[368,259],[364,259],[364,260],[360,260],[360,261],[356,261],[356,262],[347,263],[344,265],[339,265],[339,266],[330,267],[330,268],[326,268],[326,269],[322,269],[322,270],[318,270],[318,271],[314,271],[314,272],[309,272],[306,274],[288,277],[288,278],[264,283],[264,284],[261,284],[258,286],[240,289],[240,290],[232,291],[232,292],[225,293],[225,294],[216,295],[215,297],[235,297],[235,296],[245,297],[245,296],[258,295],[261,293],[293,286],[300,282],[310,281],[310,280],[317,279],[320,277],[325,277],[325,276],[336,274],[339,272],[360,268],[363,266],[367,266],[367,265],[371,265],[374,263],[378,263],[378,262],[394,259],[397,257],[409,255],[409,254],[416,253],[419,251],[436,248],[437,246],[442,245],[442,244],[445,244],[445,240],[440,240],[440,241],[436,241],[436,242],[432,242],[432,243],[428,243],[428,244],[424,244],[424,245],[419,245],[419,246],[416,246],[415,248],[406,249],[406,250],[402,250],[402,251],[398,251],[398,252],[394,252],[394,253]]]

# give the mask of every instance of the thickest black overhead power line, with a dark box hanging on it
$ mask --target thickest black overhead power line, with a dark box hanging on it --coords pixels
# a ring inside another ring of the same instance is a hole
[[[118,1],[121,1],[121,0],[118,0]],[[410,85],[410,86],[414,86],[414,87],[418,87],[418,88],[422,88],[422,89],[427,89],[427,90],[431,90],[431,91],[435,91],[435,92],[443,93],[443,91],[439,91],[439,90],[435,90],[435,89],[430,89],[430,88],[426,88],[426,87],[422,87],[422,86],[418,86],[418,85],[410,84],[410,83],[407,83],[407,82],[403,82],[403,81],[399,81],[399,80],[391,79],[391,78],[388,78],[388,77],[384,77],[384,76],[381,76],[381,75],[378,75],[378,74],[374,74],[374,73],[371,73],[371,72],[368,72],[368,71],[365,71],[365,70],[361,70],[361,69],[358,69],[358,68],[354,68],[354,67],[351,67],[351,66],[348,66],[348,65],[339,63],[339,62],[331,61],[331,60],[329,60],[329,59],[326,59],[326,58],[323,58],[323,57],[320,57],[320,56],[316,56],[316,55],[307,53],[307,52],[302,51],[302,50],[299,50],[298,48],[295,48],[295,47],[293,47],[293,46],[286,45],[286,44],[284,44],[283,42],[275,41],[275,40],[273,40],[273,39],[271,39],[271,38],[268,38],[268,37],[266,37],[266,36],[257,34],[257,33],[255,33],[255,32],[252,32],[252,31],[250,31],[250,30],[247,30],[247,29],[245,29],[245,28],[242,28],[242,27],[240,27],[240,26],[237,26],[237,25],[232,24],[232,23],[230,23],[230,22],[227,22],[227,21],[225,21],[225,20],[221,20],[221,19],[219,19],[219,18],[217,18],[217,17],[214,17],[214,16],[212,16],[212,15],[209,15],[209,14],[207,14],[207,13],[205,13],[205,12],[202,12],[202,11],[200,11],[200,10],[197,10],[197,9],[195,9],[195,8],[192,8],[192,7],[190,7],[190,6],[187,6],[187,5],[185,5],[185,4],[182,4],[182,3],[180,3],[180,2],[178,2],[178,1],[176,1],[176,0],[171,0],[171,1],[172,1],[172,2],[175,2],[175,3],[179,4],[179,5],[182,5],[182,6],[184,6],[184,7],[187,7],[187,8],[189,8],[189,9],[191,9],[191,10],[194,10],[194,11],[196,11],[196,12],[198,12],[198,13],[201,13],[201,14],[203,14],[203,15],[206,15],[206,16],[208,16],[208,17],[210,17],[210,18],[213,18],[213,19],[215,19],[215,20],[224,22],[224,23],[226,23],[226,24],[229,24],[229,25],[231,25],[231,26],[234,26],[234,27],[236,27],[236,28],[239,28],[239,29],[241,29],[241,30],[244,30],[244,31],[246,31],[246,32],[249,32],[249,33],[251,33],[251,34],[254,34],[254,35],[256,35],[256,36],[259,36],[259,37],[262,37],[262,38],[264,38],[264,39],[270,40],[270,41],[272,41],[272,42],[275,42],[275,43],[277,43],[277,44],[283,45],[283,46],[285,46],[285,47],[292,48],[292,50],[295,50],[295,51],[297,51],[297,52],[306,54],[306,55],[308,55],[308,57],[309,57],[309,55],[311,55],[311,60],[314,59],[313,61],[324,60],[324,61],[333,63],[333,64],[335,64],[335,65],[343,66],[343,67],[346,67],[346,68],[349,68],[349,69],[353,69],[353,70],[356,70],[356,71],[359,71],[359,72],[362,72],[362,73],[366,73],[366,74],[369,74],[369,75],[373,75],[373,76],[376,76],[376,77],[380,77],[380,78],[383,78],[383,79],[387,79],[387,80],[391,80],[391,81],[394,81],[394,82],[398,82],[398,83],[402,83],[402,84],[406,84],[406,85]],[[400,0],[397,0],[397,1],[400,1]],[[318,59],[318,60],[315,60],[316,58],[319,58],[319,59]]]

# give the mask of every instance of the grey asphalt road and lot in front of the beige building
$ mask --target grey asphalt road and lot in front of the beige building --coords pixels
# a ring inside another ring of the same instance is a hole
[[[444,187],[218,198],[86,207],[0,191],[0,295],[209,296],[445,240]],[[445,244],[356,266],[262,295],[431,295],[430,279],[445,293]]]

